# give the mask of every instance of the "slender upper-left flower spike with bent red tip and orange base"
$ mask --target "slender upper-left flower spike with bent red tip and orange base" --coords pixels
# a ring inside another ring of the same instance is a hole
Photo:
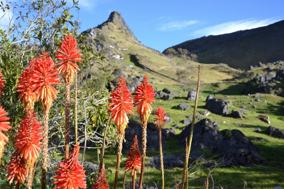
[[[33,86],[31,85],[31,79],[33,76],[34,67],[35,58],[32,58],[28,67],[21,74],[17,86],[17,92],[21,92],[19,98],[23,97],[22,103],[25,111],[30,111],[33,108],[35,104],[36,94],[38,94],[38,90],[32,92]]]

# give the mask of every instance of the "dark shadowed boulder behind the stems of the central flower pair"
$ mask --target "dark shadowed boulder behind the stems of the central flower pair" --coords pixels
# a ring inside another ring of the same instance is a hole
[[[129,120],[128,128],[125,129],[125,142],[123,141],[122,143],[123,152],[129,151],[135,135],[137,135],[138,142],[142,141],[141,123]],[[156,129],[156,125],[154,123],[147,124],[147,141],[151,141],[147,142],[147,150],[159,150],[159,131]],[[166,149],[164,135],[162,135],[162,148]],[[139,145],[139,149],[142,149],[142,144]]]

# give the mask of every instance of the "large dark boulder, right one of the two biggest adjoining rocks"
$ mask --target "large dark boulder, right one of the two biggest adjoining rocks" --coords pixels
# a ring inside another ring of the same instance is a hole
[[[222,142],[212,149],[212,153],[221,154],[227,165],[252,167],[254,165],[266,166],[265,160],[260,155],[260,149],[249,138],[237,129],[221,131],[224,136]]]

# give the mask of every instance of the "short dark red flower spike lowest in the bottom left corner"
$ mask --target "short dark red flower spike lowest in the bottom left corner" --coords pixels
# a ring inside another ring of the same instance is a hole
[[[19,181],[21,183],[25,182],[26,177],[26,168],[25,168],[25,161],[21,158],[20,154],[15,151],[8,163],[6,173],[9,174],[7,176],[7,180],[10,180],[9,183],[11,184],[16,177],[15,183],[17,184]]]

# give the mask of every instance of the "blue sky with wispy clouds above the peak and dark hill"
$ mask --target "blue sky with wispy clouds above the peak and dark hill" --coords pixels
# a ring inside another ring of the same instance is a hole
[[[284,19],[283,0],[79,0],[81,31],[122,14],[142,44],[163,51],[187,40]]]

